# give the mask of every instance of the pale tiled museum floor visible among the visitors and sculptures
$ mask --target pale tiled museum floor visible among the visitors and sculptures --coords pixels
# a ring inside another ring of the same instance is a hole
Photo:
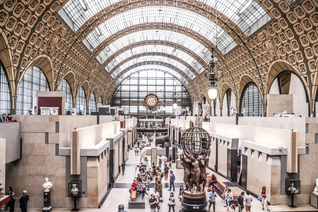
[[[130,153],[130,152],[129,152]],[[131,152],[132,153],[132,152]],[[159,156],[158,156],[159,157]],[[129,192],[128,189],[130,188],[130,185],[132,181],[135,179],[135,167],[137,165],[138,161],[138,156],[135,156],[135,154],[129,154],[129,159],[126,163],[126,169],[125,169],[125,175],[121,175],[118,177],[116,180],[116,183],[114,184],[114,187],[110,191],[110,194],[108,195],[107,199],[105,200],[104,204],[100,209],[80,209],[80,211],[92,211],[92,212],[117,212],[118,211],[118,205],[123,204],[125,206],[125,210],[128,212],[149,212],[150,207],[148,204],[149,197],[150,195],[146,196],[145,199],[145,209],[128,209],[128,200],[129,200]],[[172,169],[175,176],[175,186],[176,186],[176,191],[173,192],[175,196],[179,195],[179,187],[181,184],[183,184],[183,169],[177,169],[176,164],[172,164]],[[211,170],[208,171],[210,174],[213,172]],[[218,180],[221,180],[223,182],[227,182],[230,185],[230,182],[226,180],[225,178],[219,176],[216,173],[213,173],[216,175]],[[163,180],[164,181],[164,180]],[[153,193],[153,187],[155,183],[153,181],[153,184],[151,185],[150,191],[147,191],[148,193]],[[230,187],[235,193],[240,194],[243,190],[241,190],[238,187]],[[170,194],[169,189],[169,181],[164,181],[163,182],[163,189],[162,189],[162,195],[163,195],[163,202],[160,203],[160,212],[168,212],[168,197]],[[225,212],[226,209],[223,207],[223,202],[221,202],[221,198],[218,196],[217,201],[216,201],[216,212]],[[291,209],[287,205],[271,205],[269,206],[269,209],[273,212],[283,212],[283,211],[318,211],[314,207],[311,207],[310,205],[297,205],[298,208]],[[181,207],[181,202],[179,199],[176,199],[176,206],[175,210],[176,212],[179,211]],[[212,208],[211,208],[212,209]],[[18,208],[16,208],[15,212],[20,211]],[[34,208],[28,208],[29,212],[42,212],[42,209],[34,209]],[[71,209],[52,209],[53,212],[66,212],[66,211],[71,211]],[[171,210],[172,211],[172,210]],[[211,210],[213,211],[213,209]],[[236,208],[236,211],[238,209]],[[255,198],[253,198],[252,202],[252,212],[261,212],[262,210],[262,205],[260,204],[259,201],[257,201]],[[266,210],[265,210],[266,211]],[[244,209],[245,212],[245,209]]]

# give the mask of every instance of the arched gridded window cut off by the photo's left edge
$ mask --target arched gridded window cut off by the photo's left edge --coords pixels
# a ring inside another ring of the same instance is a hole
[[[8,113],[11,113],[10,87],[1,64],[0,68],[0,114],[6,113],[8,115]]]

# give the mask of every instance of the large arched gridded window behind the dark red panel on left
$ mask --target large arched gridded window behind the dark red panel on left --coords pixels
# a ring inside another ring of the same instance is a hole
[[[17,114],[29,114],[29,110],[35,106],[32,103],[33,97],[37,97],[37,91],[50,91],[50,88],[44,72],[37,66],[31,66],[24,73],[19,86]]]

